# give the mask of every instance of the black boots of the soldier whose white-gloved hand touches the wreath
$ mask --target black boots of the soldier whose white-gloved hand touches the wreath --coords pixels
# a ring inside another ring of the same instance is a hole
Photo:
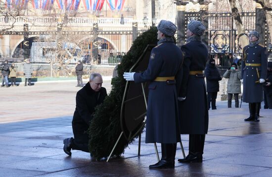
[[[175,164],[172,162],[172,149],[173,146],[171,143],[162,143],[162,158],[161,160],[154,164],[149,165],[149,168],[151,169],[168,169],[168,168],[174,168]]]

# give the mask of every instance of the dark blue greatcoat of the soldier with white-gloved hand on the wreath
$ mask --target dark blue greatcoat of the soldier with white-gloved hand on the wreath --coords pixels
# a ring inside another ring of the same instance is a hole
[[[181,142],[178,95],[176,84],[166,81],[154,81],[156,77],[176,76],[180,80],[182,52],[174,42],[164,42],[151,51],[146,71],[134,74],[134,81],[147,82],[149,94],[147,103],[145,142],[176,143]]]

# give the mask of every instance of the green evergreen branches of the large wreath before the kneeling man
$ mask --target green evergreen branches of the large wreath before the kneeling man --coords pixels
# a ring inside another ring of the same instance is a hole
[[[121,133],[120,111],[126,86],[123,73],[131,69],[148,44],[156,44],[157,41],[156,28],[150,28],[136,38],[127,55],[123,57],[122,63],[118,66],[119,77],[112,80],[110,94],[101,105],[95,107],[88,134],[91,156],[97,160],[109,156]],[[133,141],[134,139],[131,142]],[[122,137],[112,156],[120,156],[131,142]]]

